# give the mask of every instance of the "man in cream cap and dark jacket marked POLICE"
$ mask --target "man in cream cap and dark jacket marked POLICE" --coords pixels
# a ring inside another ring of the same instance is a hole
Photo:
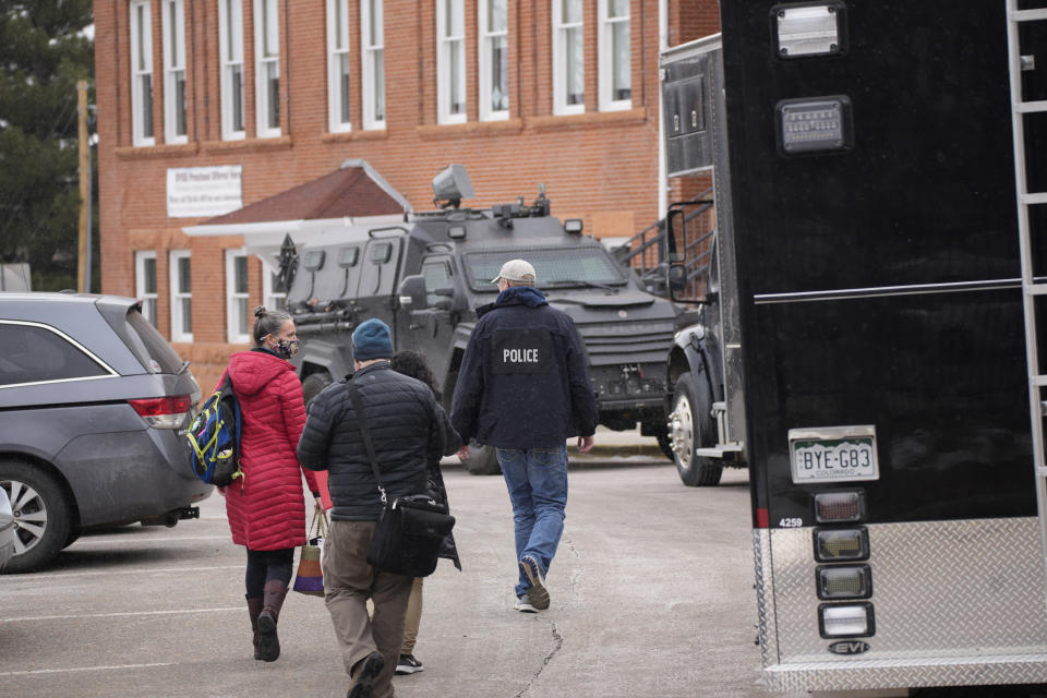
[[[592,448],[597,404],[575,323],[534,288],[534,267],[510,260],[493,282],[498,297],[477,309],[462,357],[450,423],[469,440],[497,448],[513,503],[519,580],[516,609],[549,607],[545,575],[564,531],[566,440]]]

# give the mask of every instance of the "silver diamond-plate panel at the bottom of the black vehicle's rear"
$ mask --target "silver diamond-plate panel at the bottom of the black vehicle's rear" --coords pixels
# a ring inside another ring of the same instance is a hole
[[[811,529],[754,531],[765,678],[780,690],[1047,683],[1035,518],[869,525],[876,633],[818,633]]]

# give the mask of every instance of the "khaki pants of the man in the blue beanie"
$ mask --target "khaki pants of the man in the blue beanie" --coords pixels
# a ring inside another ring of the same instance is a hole
[[[404,641],[404,615],[411,577],[378,571],[368,564],[375,521],[332,521],[324,540],[324,595],[341,648],[346,673],[371,652],[385,669],[374,683],[375,698],[392,698],[393,674]],[[368,599],[374,618],[368,616]]]

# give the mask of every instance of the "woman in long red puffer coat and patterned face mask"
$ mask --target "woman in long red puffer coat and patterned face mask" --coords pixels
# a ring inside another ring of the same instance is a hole
[[[288,313],[254,311],[254,348],[229,359],[221,375],[232,378],[240,402],[240,465],[243,478],[221,488],[232,542],[248,549],[248,612],[254,658],[280,655],[276,624],[291,581],[294,549],[305,543],[302,468],[296,448],[305,424],[302,384],[288,359],[298,353],[294,322]],[[216,388],[217,389],[217,388]],[[323,505],[326,483],[306,470],[305,481]]]

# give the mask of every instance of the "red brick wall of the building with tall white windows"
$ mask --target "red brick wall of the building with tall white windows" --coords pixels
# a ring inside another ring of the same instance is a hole
[[[416,209],[431,207],[431,180],[449,163],[468,170],[477,198],[468,204],[528,200],[544,183],[553,214],[581,217],[587,231],[622,236],[659,217],[658,7],[633,0],[633,108],[600,112],[597,2],[586,1],[586,113],[552,116],[552,17],[549,1],[508,0],[509,120],[478,121],[477,0],[465,0],[468,122],[436,123],[433,0],[385,1],[386,130],[362,131],[359,94],[359,2],[350,0],[353,130],[327,130],[326,9],[323,0],[281,0],[279,139],[255,137],[252,0],[243,0],[244,141],[221,141],[217,3],[185,0],[189,143],[164,143],[160,2],[153,0],[156,146],[131,143],[128,0],[95,1],[99,128],[101,284],[134,294],[134,251],[156,250],[159,326],[169,336],[168,251],[192,250],[193,338],[177,348],[193,361],[205,388],[236,347],[226,342],[222,250],[239,238],[188,238],[201,219],[168,218],[166,172],[173,167],[240,165],[249,204],[317,178],[348,158],[363,158]],[[709,33],[715,0],[670,2],[674,36]],[[677,7],[678,5],[678,7]],[[712,28],[711,31],[715,31]],[[675,34],[674,34],[675,33]],[[261,265],[250,267],[261,298]],[[252,301],[252,308],[255,303]]]

